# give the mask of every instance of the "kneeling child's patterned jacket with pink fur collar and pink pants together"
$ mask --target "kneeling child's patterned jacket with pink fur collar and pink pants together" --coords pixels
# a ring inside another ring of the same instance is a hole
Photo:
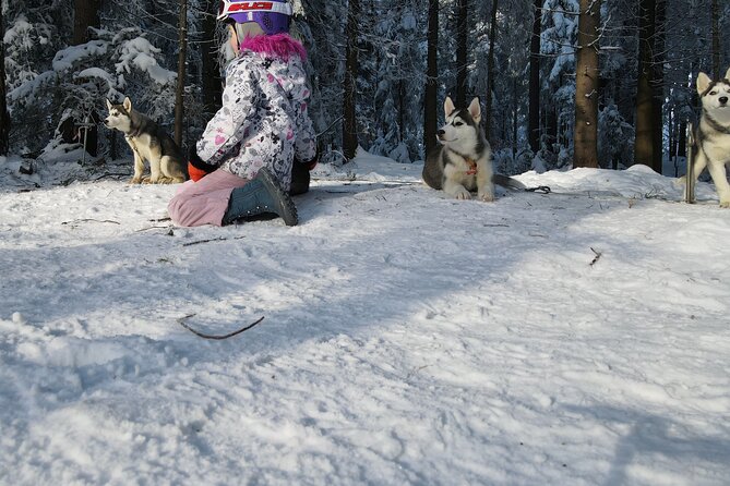
[[[261,168],[268,168],[288,191],[295,157],[308,166],[315,159],[304,56],[301,44],[287,34],[247,38],[241,45],[226,70],[223,107],[195,147],[212,172],[178,190],[167,206],[172,222],[220,226],[231,191]]]

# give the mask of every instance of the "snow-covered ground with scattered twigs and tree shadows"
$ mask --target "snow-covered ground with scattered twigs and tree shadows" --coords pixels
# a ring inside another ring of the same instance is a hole
[[[0,177],[0,484],[728,484],[709,185],[691,206],[646,169],[527,173],[554,194],[487,204],[351,172],[321,168],[295,228]],[[189,315],[265,319],[208,341]]]

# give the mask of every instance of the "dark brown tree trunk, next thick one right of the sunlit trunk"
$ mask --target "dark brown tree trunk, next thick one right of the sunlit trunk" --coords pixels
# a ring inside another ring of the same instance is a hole
[[[654,135],[654,66],[651,64],[653,39],[655,35],[656,0],[641,0],[638,5],[638,80],[636,83],[636,139],[634,163],[655,167],[657,154]],[[659,162],[661,163],[661,162]]]

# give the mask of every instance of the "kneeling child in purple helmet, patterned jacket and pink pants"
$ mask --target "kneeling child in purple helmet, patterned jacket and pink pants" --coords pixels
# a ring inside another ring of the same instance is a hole
[[[307,111],[307,52],[288,34],[291,13],[286,0],[220,2],[235,59],[223,106],[190,156],[191,180],[168,204],[173,223],[224,226],[262,214],[298,223],[289,190],[307,191],[318,151]],[[292,172],[300,179],[294,187]]]

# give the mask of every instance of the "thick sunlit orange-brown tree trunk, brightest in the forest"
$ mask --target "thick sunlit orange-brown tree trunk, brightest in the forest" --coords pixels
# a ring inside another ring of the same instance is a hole
[[[598,167],[600,0],[579,0],[573,167]]]

